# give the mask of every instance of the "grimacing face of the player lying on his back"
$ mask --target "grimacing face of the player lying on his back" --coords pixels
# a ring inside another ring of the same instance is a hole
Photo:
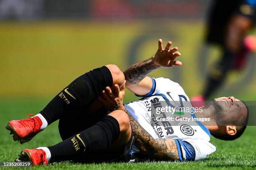
[[[235,97],[219,97],[214,101],[221,108],[226,123],[240,122],[247,114],[246,105]]]

